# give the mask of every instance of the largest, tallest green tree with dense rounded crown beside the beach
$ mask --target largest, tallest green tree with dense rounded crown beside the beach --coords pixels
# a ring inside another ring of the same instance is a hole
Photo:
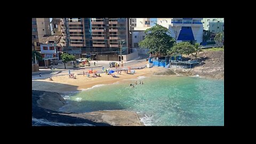
[[[166,27],[156,25],[145,30],[145,39],[139,42],[141,48],[149,48],[149,53],[156,55],[166,55],[168,50],[175,43],[175,39],[170,35],[171,32]]]

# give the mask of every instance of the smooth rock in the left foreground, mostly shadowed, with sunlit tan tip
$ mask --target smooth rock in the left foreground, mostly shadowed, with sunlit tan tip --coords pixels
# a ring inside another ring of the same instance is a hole
[[[132,111],[93,111],[91,113],[65,113],[58,109],[66,104],[65,99],[57,92],[32,90],[32,118],[42,119],[62,125],[93,125],[93,126],[142,126],[138,115]],[[40,125],[32,122],[32,125]]]

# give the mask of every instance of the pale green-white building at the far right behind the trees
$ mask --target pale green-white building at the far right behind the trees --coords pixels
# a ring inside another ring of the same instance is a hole
[[[224,31],[224,18],[204,18],[203,29],[215,34],[221,33]]]

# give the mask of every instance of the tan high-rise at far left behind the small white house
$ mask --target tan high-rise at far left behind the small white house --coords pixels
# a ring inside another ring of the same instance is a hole
[[[32,18],[32,50],[40,51],[44,35],[51,35],[50,18]]]

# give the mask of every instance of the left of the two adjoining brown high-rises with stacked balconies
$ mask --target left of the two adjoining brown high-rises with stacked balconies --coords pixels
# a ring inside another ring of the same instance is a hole
[[[61,18],[63,52],[81,58],[82,54],[92,52],[90,18]]]

